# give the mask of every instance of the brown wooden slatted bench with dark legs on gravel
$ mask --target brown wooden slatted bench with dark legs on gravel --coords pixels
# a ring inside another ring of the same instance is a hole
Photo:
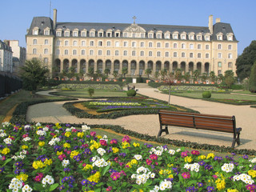
[[[240,131],[242,128],[236,128],[234,116],[222,116],[211,114],[183,113],[170,110],[159,110],[160,130],[158,137],[162,132],[169,134],[168,126],[182,126],[198,130],[214,130],[234,134],[232,148],[235,142],[240,145]],[[162,126],[165,126],[163,129]]]

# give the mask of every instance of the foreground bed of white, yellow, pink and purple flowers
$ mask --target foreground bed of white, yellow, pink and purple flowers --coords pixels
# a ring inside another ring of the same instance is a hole
[[[0,129],[0,189],[7,191],[254,191],[256,158],[216,157],[109,139],[89,126]],[[22,190],[21,190],[22,189]]]

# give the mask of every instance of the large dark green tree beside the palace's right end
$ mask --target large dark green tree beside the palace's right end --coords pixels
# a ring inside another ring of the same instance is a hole
[[[242,54],[237,58],[235,65],[237,66],[236,74],[240,81],[244,78],[250,77],[251,67],[256,61],[256,40],[250,43],[250,46],[247,46]]]

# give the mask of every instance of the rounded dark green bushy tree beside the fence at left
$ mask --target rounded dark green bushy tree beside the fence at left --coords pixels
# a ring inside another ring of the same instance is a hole
[[[42,65],[37,58],[26,60],[25,65],[21,67],[21,77],[23,80],[23,89],[37,90],[38,86],[43,86],[47,82],[47,74],[50,70]]]

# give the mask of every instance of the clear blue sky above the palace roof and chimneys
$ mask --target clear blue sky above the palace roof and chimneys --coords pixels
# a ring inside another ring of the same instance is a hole
[[[51,2],[51,7],[50,7]],[[256,0],[2,0],[0,39],[19,40],[26,47],[26,30],[33,17],[57,22],[114,22],[208,26],[210,14],[230,23],[238,39],[238,54],[256,40]]]

